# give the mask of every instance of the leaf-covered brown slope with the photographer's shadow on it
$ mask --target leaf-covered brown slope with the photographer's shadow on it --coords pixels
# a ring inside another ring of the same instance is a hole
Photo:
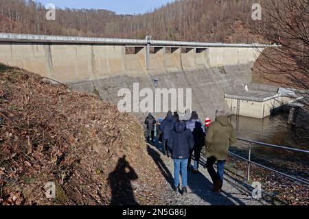
[[[95,95],[0,66],[0,205],[160,204],[164,178],[143,133]]]

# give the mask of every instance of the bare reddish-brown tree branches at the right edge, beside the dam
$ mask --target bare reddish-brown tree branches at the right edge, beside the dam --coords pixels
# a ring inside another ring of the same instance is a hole
[[[309,110],[309,1],[264,1],[263,19],[256,34],[277,44],[262,52],[255,73],[284,88],[295,88]]]

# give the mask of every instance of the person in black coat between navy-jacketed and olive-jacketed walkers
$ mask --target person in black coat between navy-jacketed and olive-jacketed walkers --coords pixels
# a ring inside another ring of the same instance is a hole
[[[190,169],[191,157],[194,152],[193,172],[196,174],[198,173],[198,165],[201,158],[201,151],[203,146],[205,146],[205,132],[203,131],[201,123],[198,122],[195,123],[195,128],[193,129],[192,134],[194,137],[194,149],[190,153],[188,169]]]

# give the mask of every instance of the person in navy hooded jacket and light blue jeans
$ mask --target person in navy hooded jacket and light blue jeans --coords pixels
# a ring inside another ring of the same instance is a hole
[[[181,170],[183,195],[187,194],[187,162],[190,151],[194,147],[192,132],[186,128],[185,123],[177,121],[168,138],[168,147],[174,160],[174,191],[179,192],[179,173]]]

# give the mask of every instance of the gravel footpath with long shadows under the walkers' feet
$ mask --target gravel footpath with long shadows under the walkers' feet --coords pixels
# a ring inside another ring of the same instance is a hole
[[[171,158],[161,152],[161,144],[148,144],[148,152],[159,166],[166,179],[166,191],[163,192],[163,202],[166,205],[271,205],[271,201],[256,200],[251,196],[252,188],[231,177],[225,171],[225,182],[222,192],[212,192],[211,178],[207,169],[203,168],[205,159],[201,159],[199,173],[194,175],[188,171],[188,194],[183,197],[172,190],[174,166]],[[193,163],[193,161],[192,161]]]

